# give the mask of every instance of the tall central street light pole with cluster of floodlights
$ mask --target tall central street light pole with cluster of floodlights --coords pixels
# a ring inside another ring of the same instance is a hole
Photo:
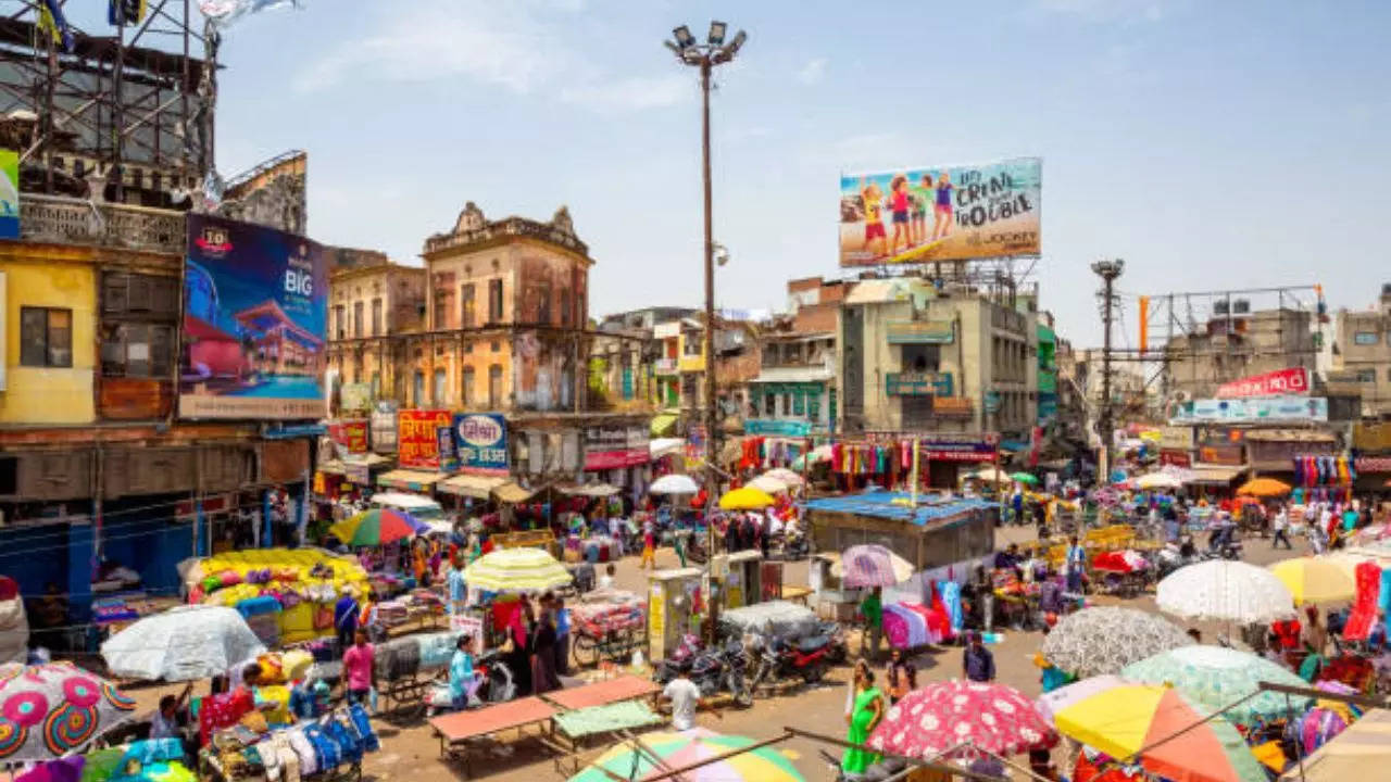
[[[748,40],[744,31],[739,31],[734,38],[725,43],[726,24],[714,21],[709,24],[709,35],[705,43],[698,43],[690,28],[682,25],[672,31],[675,40],[668,40],[666,47],[676,54],[683,65],[700,68],[701,93],[701,178],[705,189],[705,552],[707,562],[715,557],[715,525],[711,523],[709,511],[719,497],[719,473],[714,465],[719,454],[719,423],[715,415],[715,227],[714,227],[714,195],[711,189],[709,166],[709,77],[715,65],[729,63],[739,53],[739,49]],[[707,565],[708,566],[708,565]],[[718,597],[707,596],[711,607],[711,641],[714,641],[715,618],[718,615]]]

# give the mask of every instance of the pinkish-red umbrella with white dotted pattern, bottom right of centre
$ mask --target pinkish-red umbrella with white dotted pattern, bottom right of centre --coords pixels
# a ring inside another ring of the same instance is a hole
[[[910,692],[869,733],[876,751],[926,760],[963,746],[1011,756],[1056,743],[1057,732],[1020,690],[960,680]]]

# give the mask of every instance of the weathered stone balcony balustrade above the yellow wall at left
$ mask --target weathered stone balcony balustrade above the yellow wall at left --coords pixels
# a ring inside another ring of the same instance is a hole
[[[32,242],[102,245],[184,255],[188,239],[182,212],[75,198],[24,193],[19,235]]]

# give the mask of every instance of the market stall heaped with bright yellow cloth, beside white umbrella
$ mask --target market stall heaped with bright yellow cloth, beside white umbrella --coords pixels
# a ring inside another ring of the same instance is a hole
[[[184,587],[189,603],[236,608],[253,630],[271,623],[274,641],[289,644],[334,635],[334,603],[348,589],[367,594],[367,572],[321,548],[256,548],[199,559]]]

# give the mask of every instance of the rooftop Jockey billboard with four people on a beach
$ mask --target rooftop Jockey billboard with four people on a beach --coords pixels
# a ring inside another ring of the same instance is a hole
[[[840,177],[840,266],[1038,255],[1043,161]]]

